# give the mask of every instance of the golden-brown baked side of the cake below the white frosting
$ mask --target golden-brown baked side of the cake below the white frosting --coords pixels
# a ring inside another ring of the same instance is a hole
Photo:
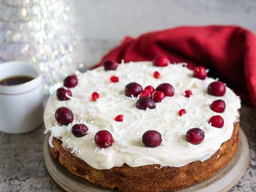
[[[203,162],[194,161],[182,167],[160,168],[160,165],[129,167],[124,164],[122,167],[98,170],[70,153],[69,149],[63,147],[62,141],[55,137],[52,141],[54,148],[50,147],[50,153],[72,174],[105,188],[118,188],[124,192],[171,191],[206,180],[222,169],[233,158],[238,148],[238,131],[239,122],[236,122],[231,138],[224,142],[209,159]]]

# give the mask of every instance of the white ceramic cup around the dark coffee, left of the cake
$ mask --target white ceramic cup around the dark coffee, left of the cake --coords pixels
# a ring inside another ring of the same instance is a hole
[[[43,123],[43,79],[39,68],[27,62],[0,64],[0,81],[22,75],[34,79],[0,85],[0,130],[5,133],[26,133]]]

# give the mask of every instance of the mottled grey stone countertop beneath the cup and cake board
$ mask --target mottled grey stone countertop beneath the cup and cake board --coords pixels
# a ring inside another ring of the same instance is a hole
[[[250,162],[245,175],[231,191],[256,191],[256,113],[242,106],[241,127],[250,146]],[[0,191],[62,191],[44,165],[44,127],[30,133],[10,135],[0,132]]]

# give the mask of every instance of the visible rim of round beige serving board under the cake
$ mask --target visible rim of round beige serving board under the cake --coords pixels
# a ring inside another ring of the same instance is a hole
[[[44,141],[44,161],[46,168],[52,176],[53,180],[68,192],[113,192],[117,190],[110,190],[101,187],[100,185],[93,185],[83,178],[71,174],[63,167],[58,160],[53,159],[49,152],[48,136]],[[239,145],[234,158],[214,177],[208,180],[199,182],[175,192],[212,192],[212,191],[228,191],[232,188],[244,175],[246,167],[249,162],[249,146],[246,136],[242,129],[239,129]],[[209,167],[210,169],[210,167]]]

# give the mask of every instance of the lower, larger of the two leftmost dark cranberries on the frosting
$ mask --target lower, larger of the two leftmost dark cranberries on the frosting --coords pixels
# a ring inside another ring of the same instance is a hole
[[[68,125],[74,120],[73,112],[66,107],[60,107],[55,112],[55,119],[61,125]]]

